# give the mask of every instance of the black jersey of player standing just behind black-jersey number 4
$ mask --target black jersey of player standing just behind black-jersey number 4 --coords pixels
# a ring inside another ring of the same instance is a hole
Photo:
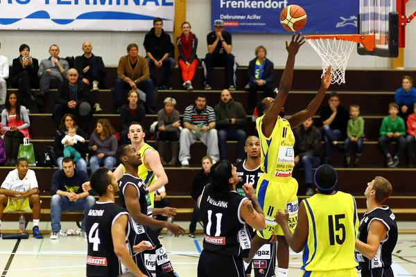
[[[137,190],[137,198],[139,199],[141,209],[140,212],[144,215],[147,215],[148,217],[153,217],[153,209],[152,204],[150,203],[148,188],[146,184],[144,184],[144,181],[139,177],[134,177],[127,173],[124,173],[123,177],[121,177],[119,181],[120,205],[127,209],[125,206],[124,190],[128,185],[135,186]],[[132,244],[138,244],[142,240],[147,240],[148,242],[152,243],[153,247],[156,247],[159,244],[159,240],[157,239],[157,231],[150,229],[148,226],[136,223],[132,217],[130,217],[130,221],[132,223],[132,232],[130,232],[130,241]]]

